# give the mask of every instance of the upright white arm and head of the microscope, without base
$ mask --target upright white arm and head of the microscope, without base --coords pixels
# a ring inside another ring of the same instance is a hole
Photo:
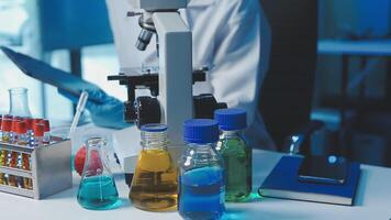
[[[171,145],[182,144],[183,122],[193,116],[192,37],[178,9],[188,0],[130,0],[152,20],[157,34],[161,123],[168,125]]]

